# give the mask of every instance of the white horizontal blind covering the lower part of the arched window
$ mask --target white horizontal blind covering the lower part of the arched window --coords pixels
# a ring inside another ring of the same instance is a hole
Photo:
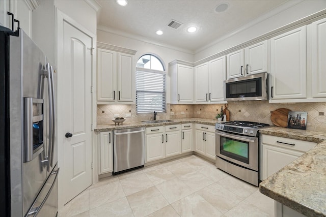
[[[137,113],[166,112],[166,74],[136,70]]]

